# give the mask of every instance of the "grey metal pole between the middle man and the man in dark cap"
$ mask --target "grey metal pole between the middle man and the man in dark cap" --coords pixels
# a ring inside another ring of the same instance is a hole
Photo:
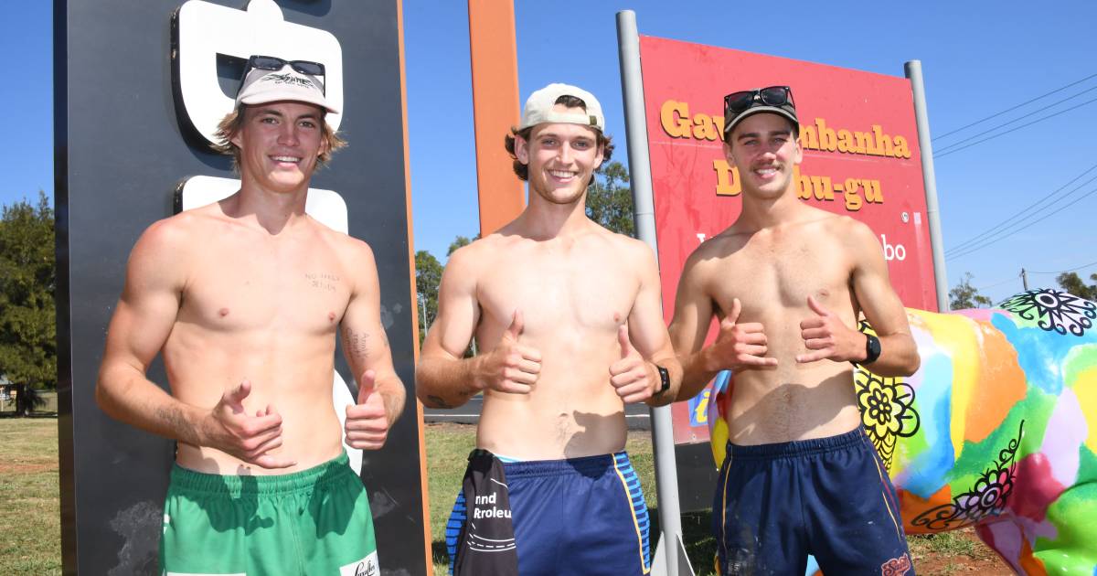
[[[640,67],[640,35],[636,13],[617,13],[618,50],[621,58],[621,92],[624,99],[625,135],[636,233],[647,242],[658,261],[655,239],[655,204],[652,200],[652,166],[647,154],[647,121],[644,115],[644,84]],[[653,574],[658,567],[668,576],[689,574],[686,550],[681,544],[682,524],[678,505],[678,467],[675,461],[674,422],[670,407],[652,408],[652,441],[655,444],[655,482],[659,496],[661,538],[653,555]],[[683,564],[685,562],[685,564]],[[682,566],[686,569],[680,571]]]

